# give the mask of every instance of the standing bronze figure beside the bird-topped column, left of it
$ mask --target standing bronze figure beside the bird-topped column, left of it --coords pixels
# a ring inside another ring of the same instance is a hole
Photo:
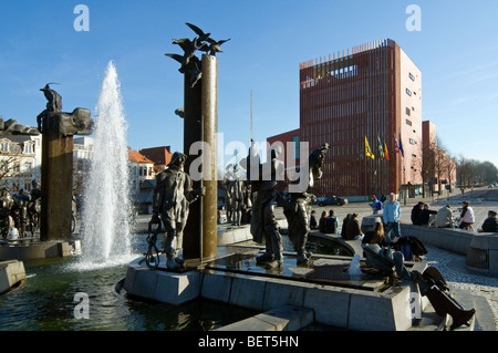
[[[183,231],[188,218],[189,205],[204,195],[204,189],[194,190],[190,176],[184,172],[187,156],[175,152],[167,168],[156,176],[151,222],[162,221],[166,231],[163,242],[166,267],[176,270],[185,260],[177,256],[183,247]],[[176,237],[177,246],[174,247]]]

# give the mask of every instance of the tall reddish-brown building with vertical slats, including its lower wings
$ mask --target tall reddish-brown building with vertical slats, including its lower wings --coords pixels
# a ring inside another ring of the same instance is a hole
[[[300,126],[267,138],[330,150],[317,196],[366,199],[375,194],[413,197],[456,180],[455,163],[423,120],[422,73],[393,40],[354,46],[299,66]],[[449,170],[448,173],[446,173]]]

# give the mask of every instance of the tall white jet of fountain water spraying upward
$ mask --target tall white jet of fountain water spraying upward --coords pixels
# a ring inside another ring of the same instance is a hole
[[[93,157],[84,185],[80,269],[122,264],[132,256],[126,128],[111,61],[96,107]]]

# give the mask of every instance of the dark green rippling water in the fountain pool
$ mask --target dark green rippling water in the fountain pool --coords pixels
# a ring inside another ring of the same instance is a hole
[[[134,236],[137,257],[144,236]],[[24,262],[28,280],[0,297],[0,331],[203,331],[251,316],[255,312],[207,301],[176,308],[141,302],[114,291],[126,264],[76,270],[77,257]],[[76,293],[89,295],[89,319],[76,319]]]

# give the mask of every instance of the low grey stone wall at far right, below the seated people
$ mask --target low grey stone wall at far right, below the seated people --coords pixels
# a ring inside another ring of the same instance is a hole
[[[423,243],[465,255],[468,268],[498,276],[498,233],[406,224],[401,224],[401,232]]]

